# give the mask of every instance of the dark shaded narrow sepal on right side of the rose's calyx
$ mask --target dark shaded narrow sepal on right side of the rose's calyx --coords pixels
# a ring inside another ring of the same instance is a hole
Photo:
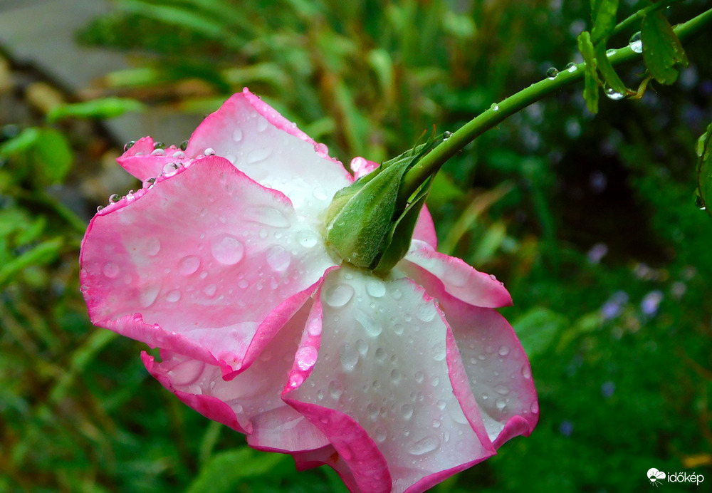
[[[428,198],[432,187],[433,177],[429,177],[409,202],[403,213],[396,219],[395,225],[388,235],[383,255],[375,269],[373,269],[376,274],[386,274],[408,253],[420,211],[423,209],[425,199]]]

